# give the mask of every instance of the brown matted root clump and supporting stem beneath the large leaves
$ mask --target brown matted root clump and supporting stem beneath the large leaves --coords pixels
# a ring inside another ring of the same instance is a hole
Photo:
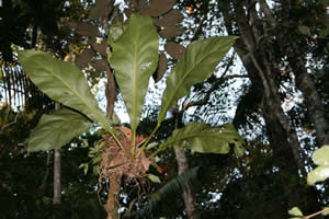
[[[138,158],[133,158],[132,151],[132,129],[121,127],[121,135],[118,141],[123,149],[117,145],[111,135],[103,135],[104,146],[101,149],[101,163],[99,165],[99,173],[101,180],[110,182],[110,189],[107,195],[107,203],[104,208],[107,211],[107,219],[118,218],[118,203],[117,197],[120,193],[121,178],[125,176],[128,181],[134,178],[141,178],[146,176],[151,161],[146,158],[144,151]],[[135,141],[135,153],[137,153],[137,146],[144,140],[143,136],[137,136]]]

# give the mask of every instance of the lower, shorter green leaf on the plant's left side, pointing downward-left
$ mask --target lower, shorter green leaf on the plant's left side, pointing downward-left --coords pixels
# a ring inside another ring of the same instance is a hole
[[[88,130],[90,122],[79,113],[63,108],[43,115],[29,138],[27,150],[52,150],[68,143],[75,136]]]

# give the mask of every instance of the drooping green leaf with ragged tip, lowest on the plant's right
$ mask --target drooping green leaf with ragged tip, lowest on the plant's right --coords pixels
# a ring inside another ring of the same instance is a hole
[[[203,123],[191,122],[184,128],[174,130],[160,146],[160,150],[178,146],[201,153],[228,153],[230,143],[239,148],[243,143],[232,124],[211,127]]]

